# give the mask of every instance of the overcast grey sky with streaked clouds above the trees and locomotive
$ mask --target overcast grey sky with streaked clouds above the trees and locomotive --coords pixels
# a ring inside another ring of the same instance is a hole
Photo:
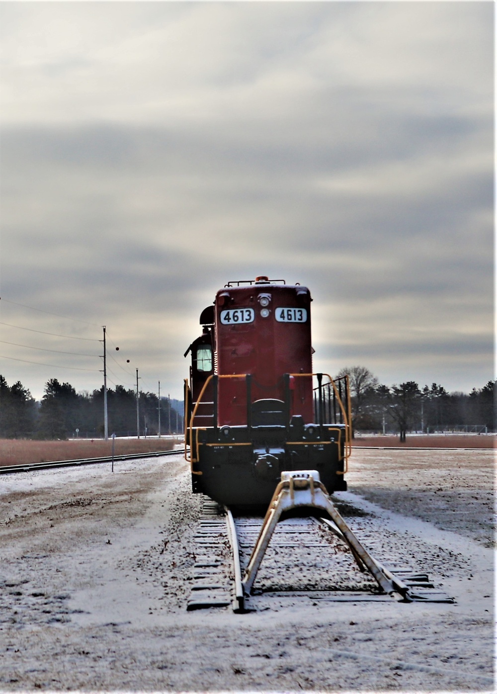
[[[107,325],[110,387],[182,398],[201,310],[261,274],[310,288],[315,370],[494,377],[491,1],[0,11],[9,384],[100,387]]]

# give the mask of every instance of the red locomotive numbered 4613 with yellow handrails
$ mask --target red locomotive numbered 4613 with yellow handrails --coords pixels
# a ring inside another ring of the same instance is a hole
[[[307,287],[258,277],[228,282],[201,313],[203,334],[185,353],[194,492],[268,505],[282,471],[295,470],[346,489],[348,382],[312,373],[311,301]]]

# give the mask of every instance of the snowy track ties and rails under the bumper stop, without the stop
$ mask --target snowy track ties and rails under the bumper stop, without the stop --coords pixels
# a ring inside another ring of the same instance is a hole
[[[294,516],[280,521],[264,564],[247,588],[247,568],[263,519],[237,515],[205,498],[194,538],[196,561],[187,610],[229,607],[235,612],[284,607],[292,602],[454,602],[412,566],[378,566],[403,586],[387,593],[357,562],[329,518]]]

